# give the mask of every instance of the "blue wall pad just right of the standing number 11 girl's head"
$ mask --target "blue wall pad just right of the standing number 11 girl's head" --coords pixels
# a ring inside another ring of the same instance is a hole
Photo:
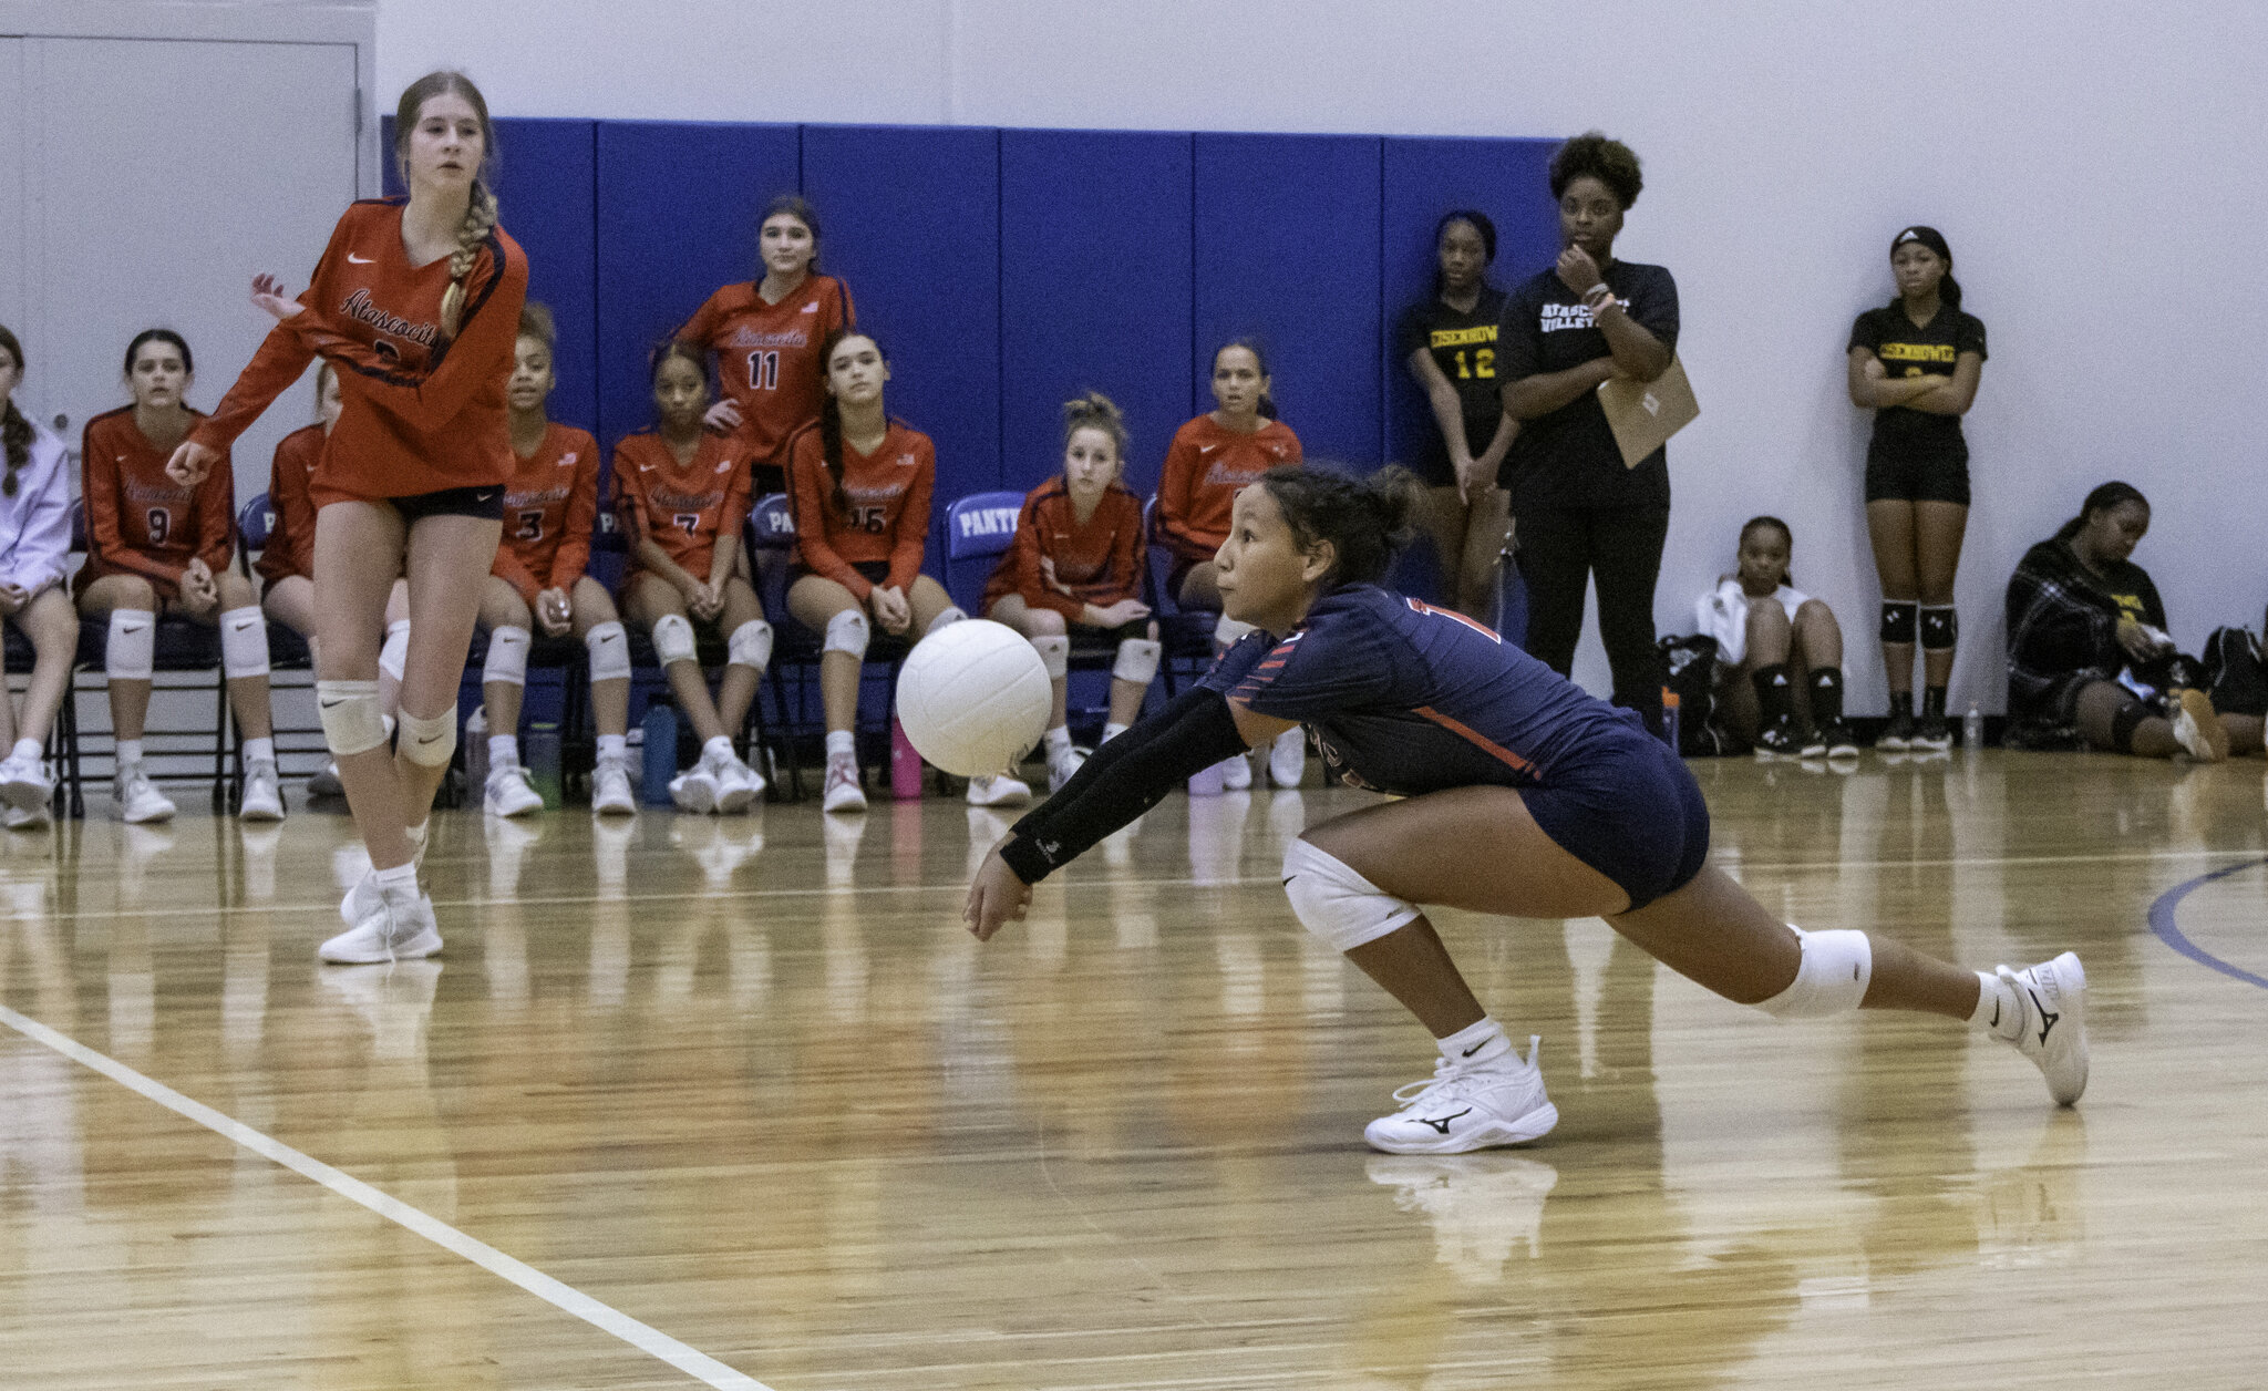
[[[937,442],[937,497],[1000,486],[1000,132],[805,125],[819,263],[889,354],[889,413]]]

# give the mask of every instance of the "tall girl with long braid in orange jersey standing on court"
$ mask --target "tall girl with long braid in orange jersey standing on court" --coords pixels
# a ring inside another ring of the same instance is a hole
[[[168,465],[181,481],[202,479],[311,359],[340,368],[345,404],[308,488],[315,701],[372,869],[340,903],[352,926],[322,944],[327,962],[442,946],[417,887],[417,851],[456,753],[456,688],[497,558],[513,472],[503,383],[528,293],[528,259],[497,227],[497,197],[481,179],[494,150],[488,102],[465,75],[413,82],[395,123],[408,197],[349,206],[299,300],[286,300],[274,277],[254,281],[252,300],[277,327]],[[379,644],[404,560],[411,644],[399,742],[388,751]]]

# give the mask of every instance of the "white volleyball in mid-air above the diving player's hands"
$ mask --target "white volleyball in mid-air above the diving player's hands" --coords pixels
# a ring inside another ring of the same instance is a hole
[[[898,672],[898,722],[914,751],[962,778],[1007,772],[1048,728],[1055,690],[1039,651],[973,617],[914,644]]]

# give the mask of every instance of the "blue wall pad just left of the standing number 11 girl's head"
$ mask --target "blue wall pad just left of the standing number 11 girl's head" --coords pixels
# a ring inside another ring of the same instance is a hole
[[[596,431],[610,452],[653,422],[653,347],[719,286],[762,272],[758,216],[801,184],[794,125],[599,123]]]

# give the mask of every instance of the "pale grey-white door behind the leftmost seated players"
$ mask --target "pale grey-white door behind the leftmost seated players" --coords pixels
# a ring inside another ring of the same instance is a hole
[[[254,272],[306,286],[354,202],[354,45],[23,39],[0,50],[11,45],[23,48],[16,109],[32,136],[29,331],[18,331],[41,418],[64,415],[59,433],[77,447],[88,415],[125,404],[125,347],[150,327],[188,338],[188,399],[211,411],[270,324],[247,300]],[[274,442],[313,411],[302,383],[238,440],[238,504],[268,488]]]

